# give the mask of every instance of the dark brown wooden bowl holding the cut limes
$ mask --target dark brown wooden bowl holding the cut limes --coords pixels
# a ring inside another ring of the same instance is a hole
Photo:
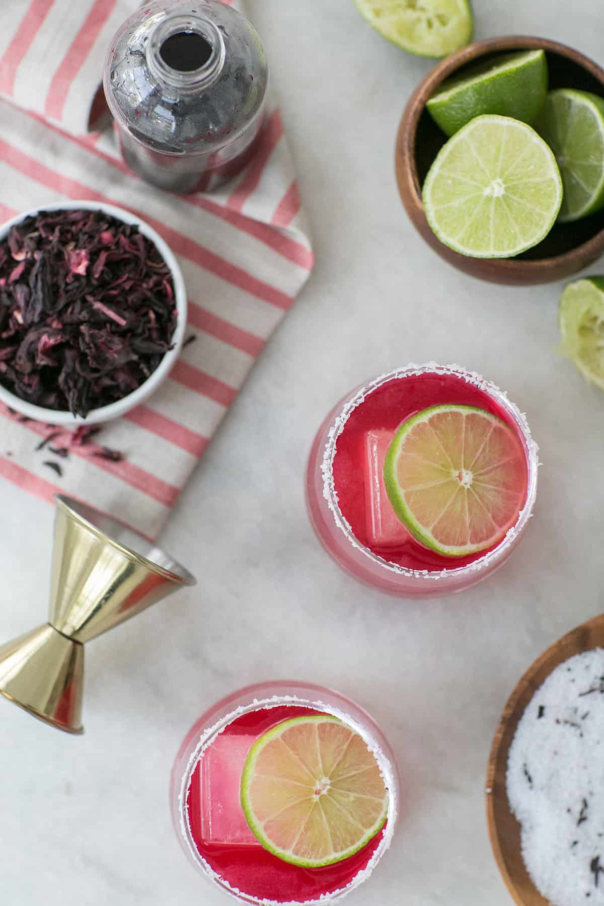
[[[543,49],[550,88],[575,88],[604,97],[604,70],[589,57],[544,38],[509,36],[478,41],[438,63],[411,95],[398,127],[396,171],[398,190],[417,231],[441,257],[466,274],[491,283],[530,285],[577,274],[604,253],[604,210],[570,224],[556,224],[538,246],[515,258],[472,258],[445,246],[428,226],[421,186],[436,154],[446,142],[426,110],[426,101],[441,82],[483,63],[502,51]]]

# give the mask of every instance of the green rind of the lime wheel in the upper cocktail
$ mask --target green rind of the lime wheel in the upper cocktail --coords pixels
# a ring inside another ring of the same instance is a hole
[[[480,551],[487,550],[489,547],[497,544],[503,539],[506,532],[509,528],[512,527],[512,525],[503,526],[500,533],[494,534],[493,537],[489,538],[487,543],[482,545],[465,545],[455,547],[442,545],[439,541],[436,540],[435,536],[432,535],[429,530],[427,530],[425,525],[421,525],[421,523],[417,521],[417,518],[413,515],[409,506],[407,506],[407,500],[405,499],[404,493],[401,492],[401,488],[397,480],[398,455],[400,453],[401,447],[407,439],[408,434],[420,422],[428,421],[433,415],[436,415],[436,413],[438,412],[480,413],[481,416],[483,416],[485,419],[490,420],[494,425],[503,426],[508,430],[510,430],[510,428],[503,421],[503,419],[498,419],[497,416],[493,415],[491,412],[477,409],[475,406],[431,406],[429,409],[422,410],[421,412],[418,412],[417,415],[413,416],[413,418],[403,422],[394,438],[392,439],[390,446],[388,447],[388,452],[384,460],[384,485],[386,486],[388,499],[390,500],[392,508],[394,509],[400,521],[407,527],[409,532],[417,538],[417,541],[427,547],[428,550],[436,551],[437,554],[443,554],[444,556],[448,557],[465,557],[469,554],[477,554]]]

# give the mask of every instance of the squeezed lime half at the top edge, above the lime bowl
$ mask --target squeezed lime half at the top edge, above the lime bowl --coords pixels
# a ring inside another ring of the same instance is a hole
[[[443,57],[472,40],[468,0],[355,0],[388,41],[418,56]]]

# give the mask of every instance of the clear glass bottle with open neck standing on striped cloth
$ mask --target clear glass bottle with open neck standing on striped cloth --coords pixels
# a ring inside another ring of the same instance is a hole
[[[158,188],[215,188],[252,159],[268,70],[244,16],[220,0],[154,0],[110,43],[105,96],[129,168]]]

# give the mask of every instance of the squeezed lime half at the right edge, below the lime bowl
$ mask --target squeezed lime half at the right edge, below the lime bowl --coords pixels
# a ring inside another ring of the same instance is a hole
[[[564,287],[558,325],[564,355],[604,390],[604,276],[584,277]]]

